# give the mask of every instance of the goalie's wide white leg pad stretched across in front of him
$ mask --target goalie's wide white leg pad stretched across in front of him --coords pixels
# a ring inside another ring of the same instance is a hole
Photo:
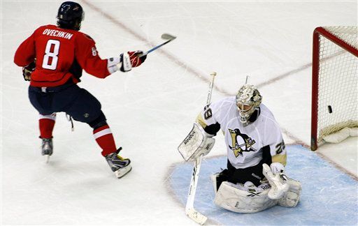
[[[227,181],[222,182],[215,195],[217,206],[236,213],[257,213],[277,203],[278,200],[268,198],[268,190],[249,192],[230,186]]]

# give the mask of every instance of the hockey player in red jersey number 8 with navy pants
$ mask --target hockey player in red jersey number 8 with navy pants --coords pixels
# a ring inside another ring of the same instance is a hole
[[[29,100],[40,113],[42,155],[52,155],[52,130],[56,112],[66,112],[76,121],[93,128],[94,139],[102,149],[115,175],[120,178],[131,170],[131,161],[119,155],[113,135],[101,111],[101,103],[81,89],[82,71],[105,78],[117,70],[127,72],[145,61],[143,52],[126,52],[101,59],[94,40],[81,33],[84,18],[80,4],[66,1],[57,14],[57,26],[39,27],[17,48],[14,62],[22,67],[24,80],[30,81]]]

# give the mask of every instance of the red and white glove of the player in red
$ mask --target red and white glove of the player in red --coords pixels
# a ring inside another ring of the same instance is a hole
[[[108,71],[111,74],[117,70],[128,72],[131,68],[140,66],[145,59],[147,59],[147,55],[143,55],[143,51],[124,52],[120,54],[120,57],[112,57],[107,60]]]

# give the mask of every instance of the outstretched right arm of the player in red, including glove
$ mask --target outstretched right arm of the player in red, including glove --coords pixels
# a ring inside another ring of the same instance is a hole
[[[76,59],[80,66],[90,75],[105,78],[117,70],[127,72],[132,67],[140,66],[145,57],[140,57],[141,52],[127,52],[118,57],[101,59],[94,40],[83,33],[76,38]]]

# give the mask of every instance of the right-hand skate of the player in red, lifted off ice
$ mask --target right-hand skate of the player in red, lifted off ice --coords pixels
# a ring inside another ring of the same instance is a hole
[[[110,169],[115,172],[115,176],[117,176],[117,178],[121,178],[131,171],[131,160],[129,160],[129,158],[122,158],[119,155],[120,150],[122,150],[122,147],[120,147],[116,152],[110,153],[105,157]]]

